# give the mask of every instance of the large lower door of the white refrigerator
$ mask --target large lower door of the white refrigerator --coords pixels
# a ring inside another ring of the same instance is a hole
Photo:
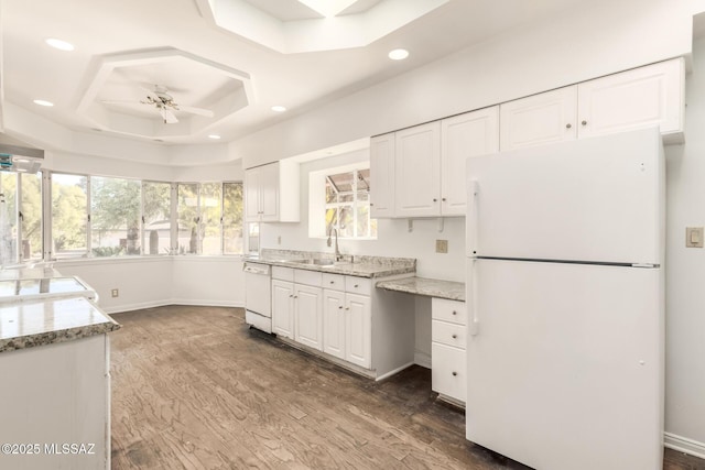
[[[469,440],[542,470],[661,469],[661,270],[469,260],[467,281]]]

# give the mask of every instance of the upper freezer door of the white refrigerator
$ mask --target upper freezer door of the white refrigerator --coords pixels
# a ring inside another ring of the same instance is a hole
[[[474,157],[467,176],[469,256],[662,262],[657,128]]]

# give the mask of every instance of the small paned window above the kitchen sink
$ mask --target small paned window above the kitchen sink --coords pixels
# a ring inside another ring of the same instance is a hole
[[[370,218],[370,170],[325,175],[325,233],[337,229],[339,238],[375,238],[377,220]]]

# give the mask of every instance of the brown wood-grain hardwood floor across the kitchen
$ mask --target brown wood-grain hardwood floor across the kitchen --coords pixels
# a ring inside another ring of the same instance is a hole
[[[465,439],[429,370],[379,383],[245,325],[239,308],[115,315],[112,469],[527,469]],[[666,450],[664,469],[705,469]]]

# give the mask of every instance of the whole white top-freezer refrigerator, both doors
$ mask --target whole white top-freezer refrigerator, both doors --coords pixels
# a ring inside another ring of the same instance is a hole
[[[662,468],[664,166],[655,128],[468,159],[469,440]]]

